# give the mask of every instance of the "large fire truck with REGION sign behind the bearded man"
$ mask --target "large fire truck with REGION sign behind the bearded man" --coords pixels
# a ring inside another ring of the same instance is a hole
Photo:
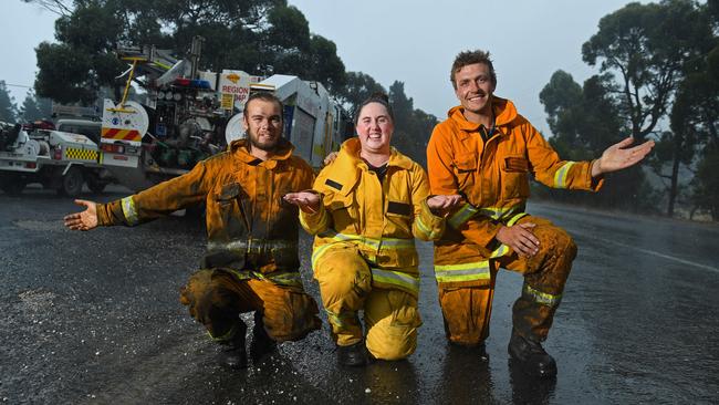
[[[123,98],[104,101],[102,164],[137,191],[181,175],[244,136],[242,111],[253,92],[272,92],[284,104],[284,136],[295,153],[319,167],[352,133],[340,104],[319,82],[238,70],[200,71],[202,39],[178,60],[155,46],[119,48],[129,64]],[[129,101],[136,83],[142,102]]]

